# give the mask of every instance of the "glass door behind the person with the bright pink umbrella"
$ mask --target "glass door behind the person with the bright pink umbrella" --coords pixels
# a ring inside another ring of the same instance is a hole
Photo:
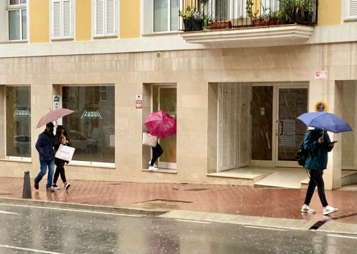
[[[153,111],[163,110],[176,117],[176,86],[154,86],[152,91]],[[176,135],[165,139],[159,139],[163,154],[159,157],[158,167],[164,169],[176,169]]]

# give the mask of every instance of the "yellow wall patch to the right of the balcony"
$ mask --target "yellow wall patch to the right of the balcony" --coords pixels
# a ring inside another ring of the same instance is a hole
[[[319,1],[318,25],[341,24],[341,0]]]

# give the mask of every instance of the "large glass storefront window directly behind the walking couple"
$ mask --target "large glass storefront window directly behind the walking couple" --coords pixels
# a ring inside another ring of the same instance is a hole
[[[73,114],[63,118],[71,144],[73,160],[114,163],[114,87],[62,87],[62,107]]]

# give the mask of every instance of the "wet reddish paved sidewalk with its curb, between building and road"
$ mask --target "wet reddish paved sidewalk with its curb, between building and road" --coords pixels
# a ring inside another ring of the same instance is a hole
[[[357,191],[326,191],[327,201],[339,211],[324,216],[317,192],[310,204],[316,213],[301,213],[306,189],[71,180],[67,191],[62,188],[47,193],[46,180],[45,176],[36,190],[31,179],[30,200],[22,199],[23,178],[0,177],[0,202],[150,215],[165,213],[162,216],[240,224],[256,224],[264,219],[266,225],[301,229],[323,221],[320,230],[333,224],[338,232],[357,234]]]

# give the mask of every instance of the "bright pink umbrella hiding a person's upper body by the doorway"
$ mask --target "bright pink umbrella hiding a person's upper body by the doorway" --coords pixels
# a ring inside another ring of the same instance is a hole
[[[151,135],[159,138],[167,138],[176,134],[176,118],[163,110],[148,114],[145,126]]]

